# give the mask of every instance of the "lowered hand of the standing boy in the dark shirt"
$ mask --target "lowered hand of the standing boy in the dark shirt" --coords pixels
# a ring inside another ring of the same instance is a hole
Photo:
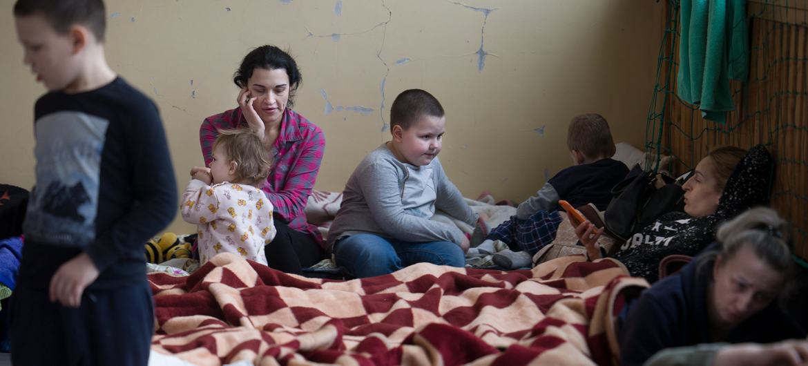
[[[90,259],[90,255],[82,253],[70,259],[57,269],[50,283],[50,301],[59,301],[63,306],[78,308],[82,305],[84,289],[99,276],[99,270]]]

